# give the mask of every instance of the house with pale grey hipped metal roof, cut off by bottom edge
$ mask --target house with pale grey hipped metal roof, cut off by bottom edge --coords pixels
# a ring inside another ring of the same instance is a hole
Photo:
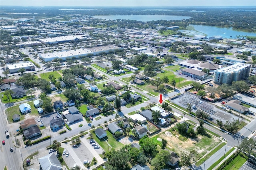
[[[62,165],[54,152],[38,158],[40,170],[62,170]]]

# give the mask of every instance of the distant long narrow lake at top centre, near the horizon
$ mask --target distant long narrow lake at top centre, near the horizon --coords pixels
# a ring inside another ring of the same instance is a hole
[[[106,19],[106,20],[137,20],[137,21],[156,21],[156,20],[183,20],[189,19],[189,16],[172,16],[172,15],[104,15],[93,16],[94,18]]]

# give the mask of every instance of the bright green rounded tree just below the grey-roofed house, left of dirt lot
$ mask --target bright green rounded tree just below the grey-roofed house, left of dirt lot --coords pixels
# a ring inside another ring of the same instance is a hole
[[[156,152],[157,144],[152,138],[144,136],[140,139],[139,144],[144,154],[152,155],[154,152]]]

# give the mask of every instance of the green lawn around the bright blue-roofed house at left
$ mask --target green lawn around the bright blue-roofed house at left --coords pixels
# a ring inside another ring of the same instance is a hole
[[[37,109],[34,107],[34,103],[33,101],[30,101],[28,102],[28,104],[30,105],[31,107],[31,115],[35,115],[35,116],[38,116],[38,111]],[[6,115],[7,115],[7,120],[9,123],[13,123],[12,121],[12,116],[17,114],[17,115],[20,115],[20,121],[24,120],[25,118],[25,115],[20,113],[20,108],[19,108],[19,105],[16,105],[16,106],[13,106],[13,107],[9,107],[8,109],[6,109],[5,111]]]

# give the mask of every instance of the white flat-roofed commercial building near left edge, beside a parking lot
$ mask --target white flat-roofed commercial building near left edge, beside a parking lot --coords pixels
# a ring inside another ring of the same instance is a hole
[[[25,61],[21,63],[6,64],[6,68],[9,69],[10,74],[12,74],[18,73],[21,68],[24,68],[26,71],[34,71],[36,67],[30,61]]]

